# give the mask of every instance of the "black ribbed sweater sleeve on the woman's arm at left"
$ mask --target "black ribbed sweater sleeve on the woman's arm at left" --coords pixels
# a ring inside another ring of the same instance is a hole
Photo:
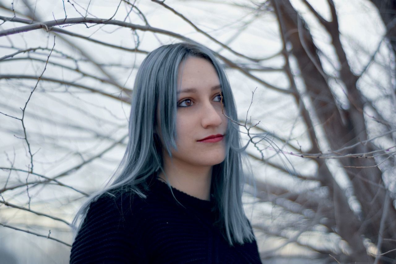
[[[145,262],[138,243],[131,241],[121,205],[106,194],[91,203],[73,242],[70,264]]]

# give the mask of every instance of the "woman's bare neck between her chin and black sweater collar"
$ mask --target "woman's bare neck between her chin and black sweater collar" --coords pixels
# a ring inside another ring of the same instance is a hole
[[[210,186],[213,166],[192,166],[179,163],[177,160],[164,159],[164,172],[168,176],[169,184],[196,198],[210,201]],[[167,180],[164,172],[158,177]]]

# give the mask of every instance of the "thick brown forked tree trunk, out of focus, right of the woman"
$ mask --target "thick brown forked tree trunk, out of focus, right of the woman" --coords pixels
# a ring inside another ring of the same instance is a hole
[[[327,83],[327,75],[322,69],[320,58],[317,54],[318,49],[303,19],[299,17],[297,11],[288,0],[272,0],[271,2],[278,16],[281,34],[284,37],[284,41],[292,46],[290,54],[297,61],[307,94],[312,100],[314,111],[322,123],[331,149],[337,150],[366,140],[366,124],[363,116],[364,98],[362,98],[356,87],[358,78],[352,73],[341,45],[337,16],[332,1],[329,0],[328,2],[333,14],[333,21],[326,23],[326,29],[332,37],[332,44],[340,61],[339,81],[343,82],[346,88],[346,94],[350,101],[348,109],[337,107],[336,100]],[[350,153],[367,153],[373,150],[370,145],[363,144],[357,144],[353,149],[349,149]],[[375,167],[374,159],[348,157],[340,159],[340,162],[345,168],[346,166],[374,166],[371,168],[346,168],[348,177],[355,190],[354,195],[356,195],[362,205],[360,220],[350,210],[343,191],[333,179],[328,179],[331,176],[325,173],[326,178],[322,181],[329,187],[333,195],[337,232],[348,241],[353,251],[351,254],[352,260],[372,262],[373,259],[367,255],[366,248],[363,245],[363,236],[371,239],[373,243],[377,243],[381,218],[386,216],[383,220],[386,223],[386,228],[384,228],[381,235],[384,238],[394,239],[396,234],[394,221],[396,219],[396,211],[391,205],[391,201],[385,199],[386,188],[382,181],[381,171]],[[387,203],[387,206],[384,206],[384,203]],[[387,214],[382,213],[383,208],[388,208]],[[384,243],[384,241],[381,245],[382,253],[393,248],[390,243]],[[388,259],[396,258],[394,251],[385,256]]]

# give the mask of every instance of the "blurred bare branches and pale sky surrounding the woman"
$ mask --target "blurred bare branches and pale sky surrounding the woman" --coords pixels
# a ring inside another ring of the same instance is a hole
[[[394,0],[0,0],[0,263],[69,263],[74,214],[124,154],[141,61],[181,41],[227,70],[263,263],[396,263],[395,12]]]

